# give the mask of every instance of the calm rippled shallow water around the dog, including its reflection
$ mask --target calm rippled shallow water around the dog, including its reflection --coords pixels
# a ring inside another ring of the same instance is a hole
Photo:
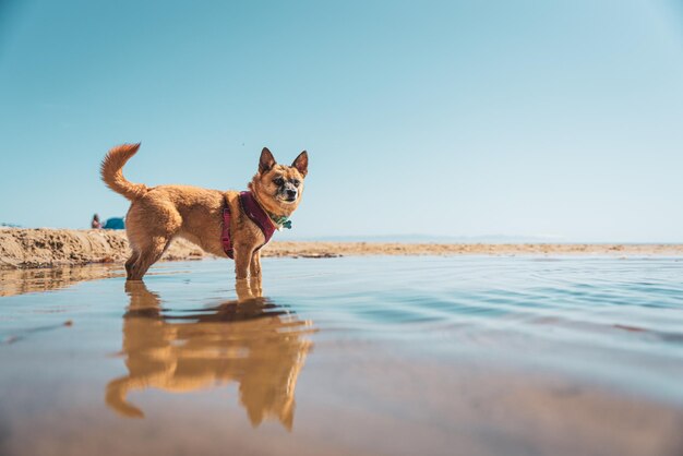
[[[263,263],[0,273],[0,454],[683,454],[680,259]]]

